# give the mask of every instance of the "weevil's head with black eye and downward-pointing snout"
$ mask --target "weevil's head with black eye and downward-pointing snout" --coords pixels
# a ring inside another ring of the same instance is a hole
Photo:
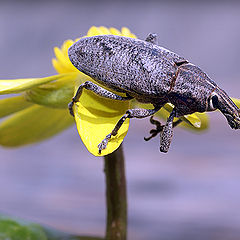
[[[225,91],[216,88],[208,98],[208,111],[220,110],[233,129],[240,129],[240,110]]]

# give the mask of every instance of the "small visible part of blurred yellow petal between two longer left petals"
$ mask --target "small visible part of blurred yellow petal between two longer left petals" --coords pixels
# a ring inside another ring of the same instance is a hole
[[[30,107],[32,103],[26,101],[24,96],[10,97],[0,100],[0,118],[8,116],[14,112]]]

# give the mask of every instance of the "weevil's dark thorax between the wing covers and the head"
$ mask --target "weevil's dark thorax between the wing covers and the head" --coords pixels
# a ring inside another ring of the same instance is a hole
[[[169,101],[180,115],[205,112],[208,99],[217,85],[197,66],[188,63],[179,66]]]

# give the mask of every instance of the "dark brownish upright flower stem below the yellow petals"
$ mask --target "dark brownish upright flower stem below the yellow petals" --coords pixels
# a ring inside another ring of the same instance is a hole
[[[127,239],[127,193],[122,145],[104,157],[107,195],[106,240]]]

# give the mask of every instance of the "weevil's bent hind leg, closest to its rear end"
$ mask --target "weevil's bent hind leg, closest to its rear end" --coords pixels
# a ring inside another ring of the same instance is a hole
[[[72,116],[74,116],[74,112],[73,112],[73,105],[75,102],[79,101],[79,98],[82,94],[82,90],[83,88],[93,91],[94,93],[96,93],[99,96],[105,97],[105,98],[110,98],[110,99],[114,99],[114,100],[121,100],[121,101],[126,101],[126,100],[130,100],[133,97],[131,96],[127,96],[127,97],[121,97],[115,93],[112,93],[100,86],[98,86],[95,83],[92,83],[90,81],[86,81],[85,83],[81,84],[75,94],[75,96],[72,98],[72,101],[68,104],[68,109],[69,112]]]

